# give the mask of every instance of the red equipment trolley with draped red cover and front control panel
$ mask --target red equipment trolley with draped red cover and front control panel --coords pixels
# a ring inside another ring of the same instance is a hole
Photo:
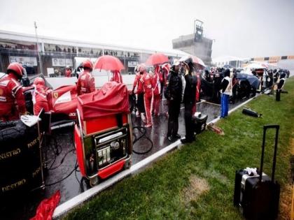
[[[80,173],[91,186],[130,168],[132,122],[124,84],[107,82],[97,91],[78,96],[74,140]]]

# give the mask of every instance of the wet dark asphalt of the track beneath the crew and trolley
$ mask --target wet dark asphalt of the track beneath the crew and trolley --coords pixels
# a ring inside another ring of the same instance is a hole
[[[238,101],[230,104],[232,109],[240,103],[246,101]],[[202,112],[202,115],[208,115],[207,122],[220,115],[220,105],[215,103],[200,102],[197,103],[197,112]],[[167,140],[167,103],[162,101],[160,104],[160,116],[153,116],[153,127],[146,129],[146,136],[153,142],[152,149],[147,154],[133,154],[132,164],[151,156],[160,149],[167,147],[172,142]],[[181,113],[179,116],[179,134],[185,135],[184,122],[184,108],[181,106]],[[136,117],[132,112],[132,126],[144,126],[141,118]],[[139,131],[135,130],[135,134]],[[49,198],[55,191],[59,190],[61,193],[60,203],[77,196],[79,193],[89,189],[90,187],[82,179],[78,167],[76,166],[76,153],[73,147],[73,126],[57,129],[52,131],[50,138],[46,140],[44,152],[47,153],[47,169],[45,170],[45,189],[35,191],[27,196],[22,196],[11,203],[7,203],[0,209],[1,219],[29,219],[34,217],[36,207],[44,198]],[[137,152],[144,152],[150,149],[151,142],[146,138],[141,138],[134,144],[134,150]],[[76,166],[76,168],[75,168]],[[68,176],[68,177],[67,177]],[[66,179],[64,179],[66,178]],[[59,182],[59,180],[64,179]],[[58,182],[54,184],[55,182]],[[52,184],[52,185],[51,185]]]

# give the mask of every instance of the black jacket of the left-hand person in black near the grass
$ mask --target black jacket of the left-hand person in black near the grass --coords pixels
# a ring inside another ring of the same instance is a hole
[[[167,100],[178,100],[181,101],[183,90],[183,83],[181,76],[174,72],[170,71],[169,75],[167,76],[167,88],[165,89],[165,98]]]

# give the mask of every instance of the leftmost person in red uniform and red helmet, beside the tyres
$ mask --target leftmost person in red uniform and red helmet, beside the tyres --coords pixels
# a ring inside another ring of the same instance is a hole
[[[12,63],[7,68],[7,75],[0,79],[0,121],[12,121],[25,115],[25,96],[22,93],[20,80],[24,68]]]

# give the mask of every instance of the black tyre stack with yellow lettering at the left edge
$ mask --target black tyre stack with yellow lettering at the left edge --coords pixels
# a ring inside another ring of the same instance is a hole
[[[37,126],[16,121],[1,129],[0,197],[19,196],[41,186],[41,166]]]

